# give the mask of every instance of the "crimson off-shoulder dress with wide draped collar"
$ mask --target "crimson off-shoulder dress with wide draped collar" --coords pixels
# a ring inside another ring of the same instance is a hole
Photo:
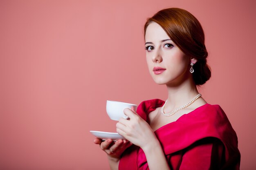
[[[145,121],[164,101],[141,102],[137,113]],[[239,170],[236,132],[219,105],[204,104],[155,131],[171,170]],[[149,170],[141,148],[127,148],[119,170]]]

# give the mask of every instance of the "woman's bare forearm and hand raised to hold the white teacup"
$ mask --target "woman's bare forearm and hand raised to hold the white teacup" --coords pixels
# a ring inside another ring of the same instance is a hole
[[[127,108],[124,113],[130,119],[119,119],[117,132],[144,151],[150,170],[170,170],[160,142],[149,124],[135,110]]]

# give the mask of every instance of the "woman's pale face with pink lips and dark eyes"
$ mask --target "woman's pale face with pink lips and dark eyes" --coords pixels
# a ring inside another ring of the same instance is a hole
[[[157,84],[177,85],[189,74],[189,60],[162,27],[152,22],[145,34],[146,60]]]

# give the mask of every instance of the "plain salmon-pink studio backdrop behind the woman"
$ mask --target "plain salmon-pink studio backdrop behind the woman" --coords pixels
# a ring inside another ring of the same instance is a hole
[[[109,170],[90,130],[115,132],[106,100],[165,100],[151,79],[143,26],[179,7],[201,22],[212,77],[199,88],[256,168],[255,0],[0,0],[0,169]]]

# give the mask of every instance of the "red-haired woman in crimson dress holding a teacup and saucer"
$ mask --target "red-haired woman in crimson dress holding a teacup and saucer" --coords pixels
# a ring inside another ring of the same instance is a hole
[[[239,169],[236,132],[219,105],[198,93],[211,71],[204,31],[188,11],[163,9],[144,26],[146,60],[168,99],[141,102],[125,109],[117,132],[127,140],[94,139],[108,155],[111,170]]]

